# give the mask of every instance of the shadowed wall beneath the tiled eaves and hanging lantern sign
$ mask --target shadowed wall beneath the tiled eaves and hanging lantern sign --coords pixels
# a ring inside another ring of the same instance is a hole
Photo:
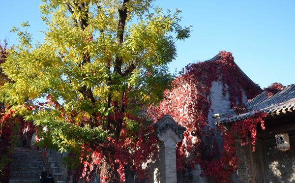
[[[236,139],[236,155],[239,158],[238,183],[295,183],[295,136],[290,138],[291,150],[277,150],[272,139],[257,140],[255,152],[252,146],[240,146]]]

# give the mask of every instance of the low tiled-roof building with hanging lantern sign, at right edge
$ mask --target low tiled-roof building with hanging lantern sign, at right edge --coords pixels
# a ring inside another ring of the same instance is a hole
[[[241,183],[295,182],[295,85],[273,85],[245,103],[247,111],[236,114],[234,109],[215,114],[217,124],[234,125],[258,112],[265,113],[265,130],[257,127],[255,152],[252,144],[240,146],[237,177]]]

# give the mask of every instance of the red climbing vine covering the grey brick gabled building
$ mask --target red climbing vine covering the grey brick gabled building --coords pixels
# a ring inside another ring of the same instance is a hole
[[[210,136],[205,131],[214,130],[207,122],[213,81],[223,84],[222,94],[229,94],[231,108],[236,107],[239,112],[246,110],[242,107],[242,91],[245,91],[248,99],[261,92],[261,89],[241,72],[232,54],[222,51],[209,61],[187,65],[173,82],[173,89],[164,91],[164,100],[158,105],[150,106],[147,114],[154,121],[170,114],[175,121],[187,128],[182,142],[177,144],[178,171],[191,170],[197,162],[205,175],[212,176],[215,182],[225,183],[237,167],[231,132],[221,127],[221,150],[218,150],[217,146],[215,150],[210,149],[204,142],[204,139]],[[213,153],[214,151],[220,151],[221,156],[218,157],[218,153]],[[206,154],[209,154],[209,157]]]

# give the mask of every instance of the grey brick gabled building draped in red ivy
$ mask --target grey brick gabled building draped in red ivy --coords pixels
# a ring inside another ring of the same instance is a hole
[[[222,51],[208,61],[190,64],[184,70],[176,78],[175,87],[164,93],[165,99],[151,115],[159,119],[169,114],[187,129],[182,143],[187,161],[178,162],[177,183],[211,183],[219,177],[223,178],[221,182],[230,181],[234,167],[228,166],[231,157],[224,160],[215,152],[216,149],[222,152],[226,147],[222,147],[223,137],[212,115],[225,113],[263,90],[238,67],[230,52]],[[209,137],[203,138],[206,135]],[[218,145],[214,143],[216,141]],[[217,155],[211,155],[214,153]],[[223,168],[223,164],[228,168]],[[228,175],[224,176],[224,172]],[[217,176],[213,177],[214,174]],[[237,176],[233,176],[232,181],[238,182]]]

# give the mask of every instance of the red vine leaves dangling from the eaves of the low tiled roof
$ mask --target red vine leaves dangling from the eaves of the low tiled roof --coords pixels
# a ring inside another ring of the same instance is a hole
[[[257,124],[261,123],[261,127],[265,130],[263,118],[266,118],[266,113],[258,112],[248,119],[235,122],[232,129],[239,135],[240,143],[242,146],[249,144],[249,134],[252,139],[252,151],[255,152],[255,142],[257,136]]]

